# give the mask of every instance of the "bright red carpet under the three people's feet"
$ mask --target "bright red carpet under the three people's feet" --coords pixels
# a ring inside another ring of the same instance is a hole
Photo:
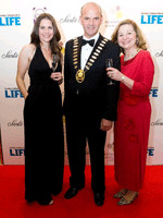
[[[68,189],[65,167],[63,192],[53,197],[52,206],[27,205],[24,199],[24,166],[0,166],[0,218],[163,218],[163,166],[148,166],[143,190],[135,203],[117,206],[112,197],[120,190],[112,166],[105,168],[106,191],[102,207],[93,203],[90,167],[86,168],[86,187],[73,199],[64,199]]]

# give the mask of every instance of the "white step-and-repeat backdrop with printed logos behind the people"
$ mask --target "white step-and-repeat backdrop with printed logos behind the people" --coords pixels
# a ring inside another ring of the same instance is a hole
[[[20,50],[29,43],[36,17],[42,12],[51,13],[57,20],[64,46],[66,40],[83,34],[79,13],[86,2],[86,0],[0,0],[0,138],[4,165],[24,165],[24,99],[17,89],[15,75]],[[95,2],[99,3],[103,11],[100,32],[105,37],[111,37],[120,21],[131,19],[137,22],[147,39],[155,66],[150,92],[152,116],[147,164],[162,165],[163,2],[162,0],[95,0]],[[28,76],[25,81],[28,86]],[[64,94],[63,85],[61,89]],[[65,149],[65,165],[67,164]],[[87,164],[89,164],[88,149]],[[114,164],[113,130],[108,132],[105,164]]]

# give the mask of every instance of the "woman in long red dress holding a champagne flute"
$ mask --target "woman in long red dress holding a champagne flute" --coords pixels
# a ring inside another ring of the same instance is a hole
[[[142,187],[150,129],[151,89],[154,66],[146,41],[134,21],[121,22],[112,40],[122,48],[121,72],[108,69],[108,76],[121,82],[117,121],[114,130],[115,180],[123,189],[114,195],[118,205],[130,204]]]

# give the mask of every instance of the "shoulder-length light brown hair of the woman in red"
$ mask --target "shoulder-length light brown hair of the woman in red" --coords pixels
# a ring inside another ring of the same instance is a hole
[[[133,26],[133,28],[136,33],[136,37],[137,37],[137,39],[136,39],[137,47],[140,49],[147,50],[146,40],[142,37],[140,28],[136,24],[136,22],[134,22],[131,20],[124,20],[117,24],[117,26],[115,27],[115,31],[113,32],[112,37],[111,37],[112,41],[117,44],[118,29],[122,25],[125,25],[125,24],[130,24]],[[121,49],[122,49],[122,52],[124,52],[124,49],[123,48],[121,48]]]

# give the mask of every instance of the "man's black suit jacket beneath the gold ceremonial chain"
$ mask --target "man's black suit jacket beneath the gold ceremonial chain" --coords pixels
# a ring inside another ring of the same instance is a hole
[[[80,104],[85,112],[99,116],[101,119],[116,120],[116,107],[120,92],[120,83],[108,85],[108,76],[105,71],[105,59],[113,58],[114,68],[121,68],[120,47],[111,40],[105,39],[102,35],[99,36],[97,44],[91,52],[93,55],[93,63],[85,74],[83,83],[76,81],[76,72],[80,69],[80,48],[83,37],[78,37],[77,50],[77,68],[74,68],[74,39],[71,39],[65,45],[64,57],[64,113],[67,114],[72,110],[75,111],[76,104]],[[101,41],[103,41],[101,46]],[[104,46],[103,46],[104,45]],[[100,49],[99,49],[100,47]],[[97,48],[98,51],[97,52]],[[98,55],[97,55],[98,53]],[[91,57],[90,55],[90,57]],[[96,57],[95,57],[96,56]],[[89,59],[88,59],[89,61]],[[90,62],[90,61],[89,61]],[[86,63],[87,65],[87,63]],[[78,99],[76,101],[76,99]],[[85,110],[87,108],[87,110]],[[83,110],[82,109],[82,110]]]

